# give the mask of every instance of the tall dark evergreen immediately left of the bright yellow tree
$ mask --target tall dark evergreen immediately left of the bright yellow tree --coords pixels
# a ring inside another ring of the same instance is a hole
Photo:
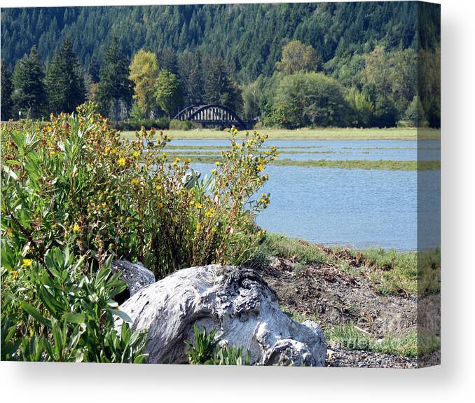
[[[114,38],[106,51],[104,67],[97,88],[99,110],[113,120],[124,118],[124,109],[130,108],[134,83],[129,78],[129,63],[123,55],[118,39]]]

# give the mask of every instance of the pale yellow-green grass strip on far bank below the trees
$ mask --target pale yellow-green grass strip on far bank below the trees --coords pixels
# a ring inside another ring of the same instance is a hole
[[[303,128],[296,130],[263,128],[258,130],[273,140],[415,140],[440,139],[441,132],[436,129],[390,128],[390,129],[357,129],[357,128]],[[172,139],[226,139],[228,133],[214,129],[198,130],[165,130]],[[130,139],[134,132],[123,132],[123,137]],[[240,132],[244,135],[244,132]]]

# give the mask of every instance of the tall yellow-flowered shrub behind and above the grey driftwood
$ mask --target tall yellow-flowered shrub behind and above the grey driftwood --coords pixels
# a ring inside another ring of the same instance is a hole
[[[112,253],[143,261],[163,277],[200,264],[241,264],[254,252],[261,236],[254,217],[269,203],[269,195],[254,195],[277,153],[259,151],[265,137],[257,132],[238,142],[231,130],[212,175],[187,184],[190,161],[169,162],[166,135],[154,141],[156,132],[142,128],[122,141],[93,104],[43,129],[2,129],[1,224],[35,261],[69,245],[81,256],[91,251],[88,259]]]

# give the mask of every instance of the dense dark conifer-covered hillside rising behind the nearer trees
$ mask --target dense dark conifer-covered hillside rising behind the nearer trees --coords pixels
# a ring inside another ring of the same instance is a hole
[[[43,60],[50,60],[69,36],[87,68],[93,57],[102,62],[117,36],[128,57],[140,48],[200,48],[223,57],[245,83],[273,74],[282,46],[292,39],[312,45],[323,62],[368,53],[376,45],[432,48],[440,27],[425,13],[433,11],[416,2],[3,8],[1,58],[13,67],[36,45]],[[418,19],[429,33],[420,41]]]

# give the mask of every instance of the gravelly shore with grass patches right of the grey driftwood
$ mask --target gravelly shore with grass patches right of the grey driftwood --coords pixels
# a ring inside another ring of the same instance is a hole
[[[248,266],[274,289],[284,313],[322,327],[326,367],[439,362],[440,329],[418,330],[420,306],[435,308],[440,301],[439,248],[352,250],[266,233]]]

